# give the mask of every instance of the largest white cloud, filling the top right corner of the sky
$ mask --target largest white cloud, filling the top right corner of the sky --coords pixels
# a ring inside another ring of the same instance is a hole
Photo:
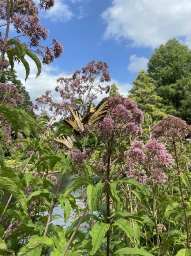
[[[153,48],[172,37],[190,44],[190,14],[190,0],[114,0],[102,13],[107,25],[104,37]]]

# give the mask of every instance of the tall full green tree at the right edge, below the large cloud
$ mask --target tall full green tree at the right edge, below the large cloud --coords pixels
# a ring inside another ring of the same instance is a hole
[[[163,98],[167,114],[191,119],[191,50],[177,39],[160,45],[151,55],[148,73]]]

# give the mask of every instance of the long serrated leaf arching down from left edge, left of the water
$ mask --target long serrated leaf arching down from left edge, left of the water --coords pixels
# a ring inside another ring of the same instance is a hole
[[[15,182],[7,177],[0,178],[0,187],[6,189],[13,195],[13,197],[18,200],[20,205],[22,206],[24,212],[27,212],[27,200],[24,192],[20,189],[19,186],[15,184]]]

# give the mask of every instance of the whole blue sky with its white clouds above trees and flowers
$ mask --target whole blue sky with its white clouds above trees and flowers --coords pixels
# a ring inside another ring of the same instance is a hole
[[[173,37],[191,46],[190,0],[55,0],[53,9],[39,15],[40,23],[49,30],[44,45],[56,38],[64,53],[43,66],[37,79],[36,67],[29,61],[26,83],[24,67],[15,65],[33,102],[47,89],[59,100],[54,92],[56,79],[70,76],[93,59],[108,64],[112,79],[108,84],[115,82],[127,96],[156,47]]]

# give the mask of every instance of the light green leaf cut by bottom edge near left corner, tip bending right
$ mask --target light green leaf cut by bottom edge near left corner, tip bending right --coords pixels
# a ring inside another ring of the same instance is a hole
[[[54,248],[54,242],[49,237],[32,236],[29,243],[21,248],[18,256],[40,256],[42,247]]]

